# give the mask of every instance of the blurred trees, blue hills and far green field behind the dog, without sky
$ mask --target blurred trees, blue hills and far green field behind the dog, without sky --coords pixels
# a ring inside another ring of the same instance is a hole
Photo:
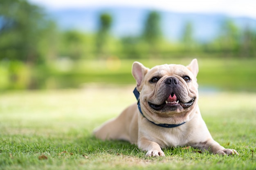
[[[0,91],[134,84],[134,61],[152,67],[193,58],[201,88],[256,91],[253,17],[35,2],[1,0]]]

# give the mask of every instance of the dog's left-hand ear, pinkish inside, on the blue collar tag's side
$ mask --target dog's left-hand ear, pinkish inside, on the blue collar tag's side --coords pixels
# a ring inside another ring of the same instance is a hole
[[[132,64],[132,75],[137,83],[137,90],[141,91],[141,84],[143,83],[144,76],[148,72],[149,68],[146,68],[143,64],[139,62],[134,62]]]

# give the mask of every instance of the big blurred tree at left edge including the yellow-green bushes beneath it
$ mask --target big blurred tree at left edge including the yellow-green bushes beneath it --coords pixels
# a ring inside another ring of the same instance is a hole
[[[4,88],[37,88],[44,83],[38,81],[38,75],[47,77],[43,65],[56,55],[56,35],[55,23],[40,7],[27,0],[0,0],[0,65],[7,77]],[[43,71],[39,73],[39,69]]]

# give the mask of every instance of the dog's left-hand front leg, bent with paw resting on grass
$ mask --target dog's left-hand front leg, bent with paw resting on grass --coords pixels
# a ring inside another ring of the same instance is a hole
[[[154,141],[150,141],[145,137],[141,137],[138,141],[138,147],[142,150],[146,150],[147,157],[164,157],[164,152],[162,151],[159,144]]]

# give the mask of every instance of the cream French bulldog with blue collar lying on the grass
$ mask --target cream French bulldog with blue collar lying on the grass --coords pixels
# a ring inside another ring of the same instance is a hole
[[[211,137],[198,107],[198,62],[164,64],[151,69],[132,65],[137,103],[94,130],[102,140],[126,140],[148,157],[165,156],[162,148],[192,146],[213,154],[238,155]]]

